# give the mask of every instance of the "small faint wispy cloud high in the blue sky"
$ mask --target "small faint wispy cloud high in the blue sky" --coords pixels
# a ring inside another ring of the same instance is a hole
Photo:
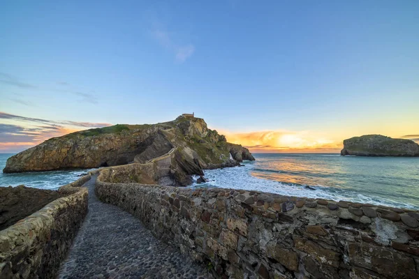
[[[183,63],[192,56],[195,52],[195,46],[192,44],[178,44],[175,43],[173,36],[165,30],[156,29],[152,31],[154,38],[159,42],[162,47],[165,47],[167,50],[174,52],[175,59],[179,63]]]

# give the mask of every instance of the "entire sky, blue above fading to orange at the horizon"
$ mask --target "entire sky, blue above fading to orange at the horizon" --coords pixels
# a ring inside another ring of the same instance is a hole
[[[0,152],[195,112],[253,152],[419,140],[419,1],[2,1]]]

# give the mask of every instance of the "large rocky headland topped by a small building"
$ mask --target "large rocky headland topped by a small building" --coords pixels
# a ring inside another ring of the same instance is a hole
[[[55,137],[10,157],[3,172],[144,164],[175,149],[175,160],[162,167],[178,176],[254,160],[248,149],[207,128],[204,119],[179,116],[165,123],[115,125]]]

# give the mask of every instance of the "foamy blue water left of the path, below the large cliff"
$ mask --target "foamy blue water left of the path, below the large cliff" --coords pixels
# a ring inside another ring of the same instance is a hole
[[[27,187],[57,190],[60,186],[76,181],[89,169],[53,172],[25,172],[22,174],[3,174],[6,160],[14,154],[0,153],[0,187],[24,185]]]

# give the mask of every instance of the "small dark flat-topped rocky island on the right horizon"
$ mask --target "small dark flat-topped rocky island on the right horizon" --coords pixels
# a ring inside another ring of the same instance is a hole
[[[362,135],[344,140],[341,156],[419,156],[419,144],[383,135]]]

